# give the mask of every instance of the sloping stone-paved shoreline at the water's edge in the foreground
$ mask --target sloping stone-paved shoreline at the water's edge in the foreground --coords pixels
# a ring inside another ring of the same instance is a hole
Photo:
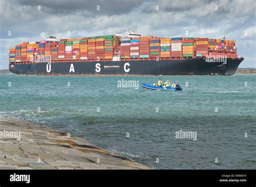
[[[42,124],[0,118],[0,169],[152,169]]]

